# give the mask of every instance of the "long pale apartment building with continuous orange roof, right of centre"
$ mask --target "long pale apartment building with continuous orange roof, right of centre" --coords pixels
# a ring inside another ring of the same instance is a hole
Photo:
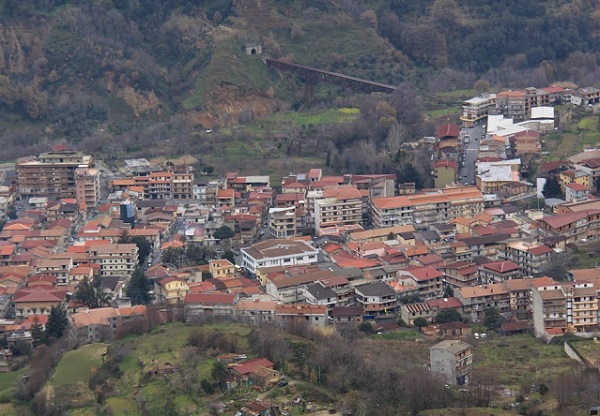
[[[426,228],[457,217],[472,218],[482,212],[483,194],[475,187],[374,198],[371,203],[371,218],[376,228],[398,225]]]

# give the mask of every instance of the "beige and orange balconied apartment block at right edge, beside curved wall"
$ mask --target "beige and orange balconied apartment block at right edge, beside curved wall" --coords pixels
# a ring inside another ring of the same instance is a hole
[[[536,336],[585,331],[598,325],[598,295],[590,282],[553,283],[532,288]]]

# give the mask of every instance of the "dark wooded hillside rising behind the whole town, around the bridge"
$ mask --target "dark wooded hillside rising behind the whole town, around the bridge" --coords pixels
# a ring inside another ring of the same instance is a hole
[[[68,141],[107,159],[191,154],[200,167],[225,169],[218,162],[226,159],[263,173],[317,162],[337,171],[395,169],[399,179],[426,186],[422,155],[395,151],[432,133],[434,117],[423,110],[444,99],[432,94],[594,85],[597,3],[7,0],[0,5],[2,159]],[[361,98],[317,85],[317,112],[360,114],[300,122],[289,111],[306,110],[301,80],[245,55],[247,42],[269,56],[402,88]],[[236,124],[245,127],[229,128]],[[390,144],[394,154],[386,153]]]

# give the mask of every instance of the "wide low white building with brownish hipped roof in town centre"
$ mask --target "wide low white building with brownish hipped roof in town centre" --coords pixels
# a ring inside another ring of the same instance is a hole
[[[256,275],[259,267],[297,266],[318,261],[320,249],[305,241],[271,239],[241,249],[244,268]]]

